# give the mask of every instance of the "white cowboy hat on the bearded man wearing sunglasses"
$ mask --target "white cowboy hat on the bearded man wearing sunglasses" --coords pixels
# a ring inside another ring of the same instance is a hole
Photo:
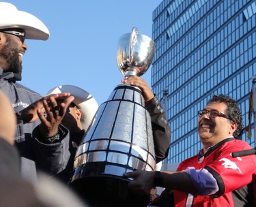
[[[0,29],[24,29],[26,39],[48,39],[50,32],[44,23],[27,12],[18,11],[12,3],[0,2]]]

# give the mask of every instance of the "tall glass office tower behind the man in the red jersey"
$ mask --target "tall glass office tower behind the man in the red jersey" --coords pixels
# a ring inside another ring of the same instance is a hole
[[[197,112],[213,94],[238,101],[244,127],[256,76],[255,0],[164,0],[153,12],[152,90],[165,99],[171,126],[167,163],[196,155],[202,147]],[[244,131],[242,140],[255,147]]]

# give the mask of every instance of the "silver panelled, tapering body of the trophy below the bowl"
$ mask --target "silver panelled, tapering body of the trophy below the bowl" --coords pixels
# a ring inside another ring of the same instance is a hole
[[[151,118],[141,91],[119,84],[110,97],[99,107],[94,124],[76,151],[74,169],[104,162],[116,170],[105,168],[100,175],[114,171],[113,175],[122,176],[128,171],[154,170]]]

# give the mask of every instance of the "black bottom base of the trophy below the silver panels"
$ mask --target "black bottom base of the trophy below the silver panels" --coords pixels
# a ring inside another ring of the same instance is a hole
[[[119,176],[83,175],[72,181],[70,187],[91,207],[147,206],[150,196],[133,193],[128,189],[129,182]]]

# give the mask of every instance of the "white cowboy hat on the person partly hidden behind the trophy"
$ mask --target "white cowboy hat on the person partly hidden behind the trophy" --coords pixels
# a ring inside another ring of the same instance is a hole
[[[74,96],[73,103],[81,109],[81,123],[83,125],[83,129],[87,131],[89,125],[91,124],[91,120],[94,118],[94,115],[98,110],[98,103],[96,99],[94,99],[94,97],[87,91],[72,85],[57,86],[56,88],[48,91],[47,95],[54,93],[70,93],[72,96]]]

